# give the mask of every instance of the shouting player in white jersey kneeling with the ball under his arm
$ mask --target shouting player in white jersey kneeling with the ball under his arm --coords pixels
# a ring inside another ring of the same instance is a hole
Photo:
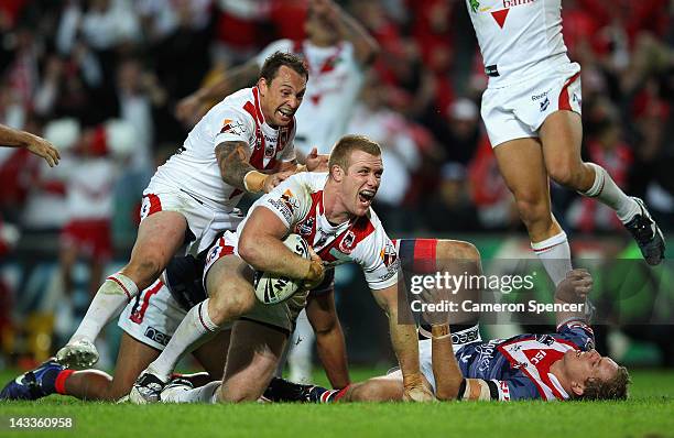
[[[403,396],[428,399],[418,369],[415,327],[398,322],[399,310],[405,306],[398,306],[395,249],[370,208],[383,172],[381,150],[363,136],[347,135],[335,145],[328,167],[327,175],[293,175],[251,207],[236,234],[225,233],[222,244],[207,260],[209,298],[188,311],[162,354],[139,377],[130,393],[132,402],[157,401],[191,346],[254,307],[252,269],[294,278],[301,289],[292,299],[303,300],[307,291],[323,281],[324,262],[341,261],[362,267],[374,298],[389,317],[404,381]],[[300,234],[313,248],[311,260],[285,248],[282,238],[289,232]],[[213,387],[214,398],[258,399],[273,376],[286,340],[278,331],[252,327],[232,333],[222,384]]]

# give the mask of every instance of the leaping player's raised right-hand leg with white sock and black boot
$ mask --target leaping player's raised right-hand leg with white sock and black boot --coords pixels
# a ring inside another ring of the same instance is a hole
[[[643,201],[629,197],[606,169],[580,157],[583,123],[580,114],[561,110],[550,114],[540,129],[545,167],[558,184],[609,206],[632,233],[649,264],[664,256],[664,240]]]

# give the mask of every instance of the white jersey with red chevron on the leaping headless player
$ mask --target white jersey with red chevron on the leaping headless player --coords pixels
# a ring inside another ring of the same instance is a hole
[[[489,86],[506,86],[568,63],[562,0],[466,0]]]

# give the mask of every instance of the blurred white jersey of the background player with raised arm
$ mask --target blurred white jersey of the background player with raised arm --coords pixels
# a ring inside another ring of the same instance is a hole
[[[348,42],[318,47],[309,41],[280,40],[267,46],[257,57],[260,66],[274,52],[294,53],[308,66],[309,79],[297,117],[295,145],[304,153],[318,147],[329,154],[333,144],[347,130],[354,107],[365,81],[365,74]]]

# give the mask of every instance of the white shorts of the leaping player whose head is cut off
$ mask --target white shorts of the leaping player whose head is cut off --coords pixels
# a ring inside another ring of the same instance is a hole
[[[558,110],[580,114],[580,66],[564,63],[539,77],[499,88],[487,88],[482,95],[481,116],[491,146],[510,140],[537,138],[539,129]]]

